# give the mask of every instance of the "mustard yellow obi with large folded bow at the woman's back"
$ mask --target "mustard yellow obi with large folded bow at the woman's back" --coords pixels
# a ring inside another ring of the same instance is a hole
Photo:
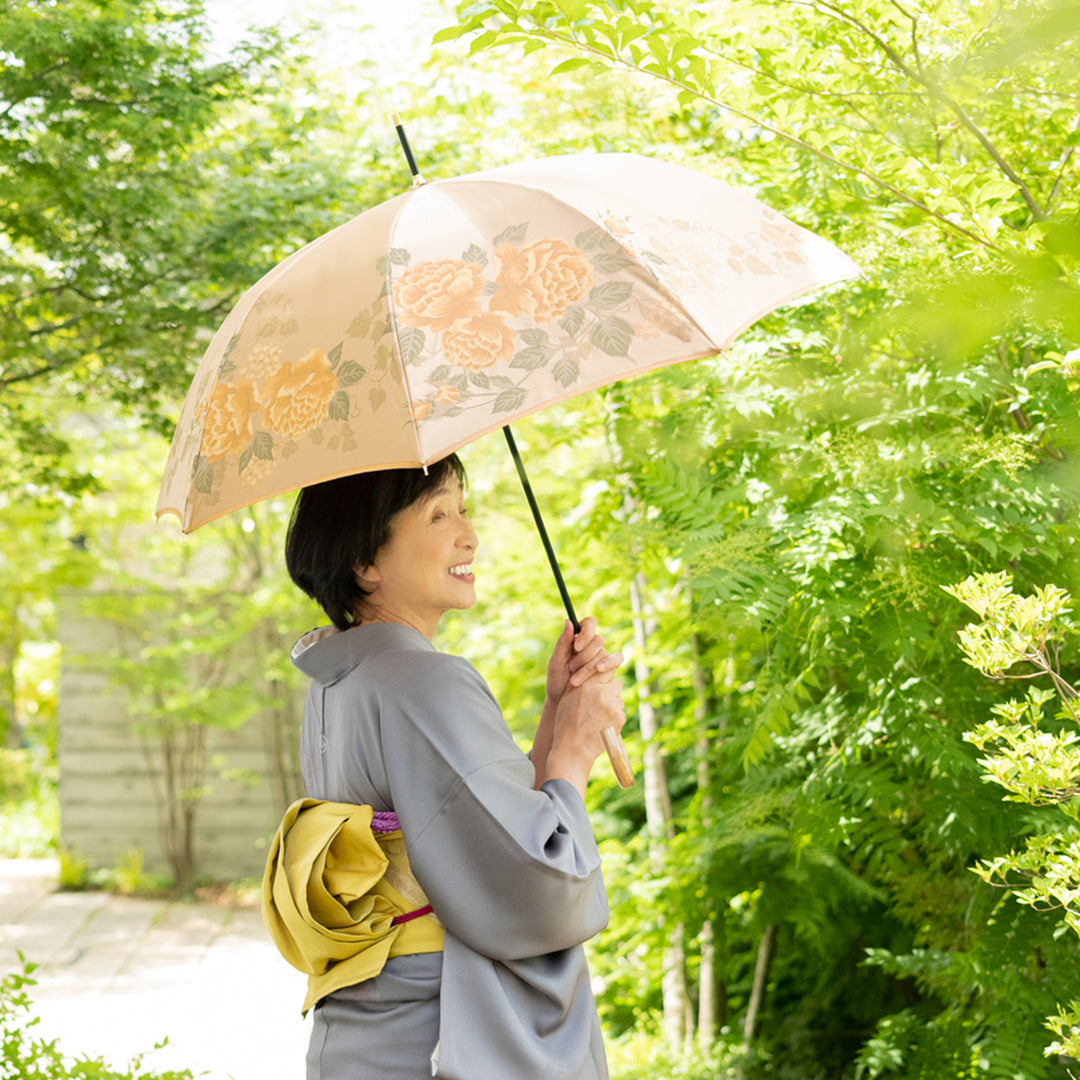
[[[391,957],[442,951],[442,924],[413,877],[401,829],[373,831],[374,816],[369,806],[299,799],[270,845],[262,920],[281,955],[308,975],[305,1015]]]

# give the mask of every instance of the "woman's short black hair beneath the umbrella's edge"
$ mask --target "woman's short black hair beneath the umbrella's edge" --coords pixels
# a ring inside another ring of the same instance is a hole
[[[338,630],[355,624],[369,595],[356,580],[356,570],[375,562],[390,539],[394,515],[450,475],[464,487],[464,465],[456,454],[427,470],[354,473],[312,484],[297,496],[285,537],[288,576],[318,600]]]

